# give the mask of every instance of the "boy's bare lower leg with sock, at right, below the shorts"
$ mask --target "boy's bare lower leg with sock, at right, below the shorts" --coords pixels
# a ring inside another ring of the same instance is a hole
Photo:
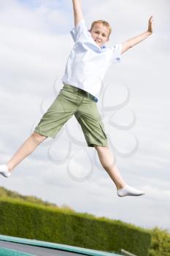
[[[112,181],[114,181],[117,187],[117,195],[119,197],[125,197],[127,195],[131,195],[131,196],[144,195],[143,191],[134,189],[133,187],[130,187],[127,184],[125,184],[125,181],[123,181],[123,178],[120,175],[120,172],[115,165],[114,158],[112,157],[112,153],[111,151],[109,151],[109,148],[107,146],[103,147],[103,146],[94,145],[94,147],[97,150],[101,165],[107,171],[110,178],[112,178]]]

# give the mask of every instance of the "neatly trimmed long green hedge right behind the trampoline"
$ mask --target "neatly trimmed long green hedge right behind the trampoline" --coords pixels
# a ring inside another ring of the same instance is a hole
[[[0,198],[0,233],[58,244],[147,256],[151,236],[146,230],[104,217],[62,211],[23,200]]]

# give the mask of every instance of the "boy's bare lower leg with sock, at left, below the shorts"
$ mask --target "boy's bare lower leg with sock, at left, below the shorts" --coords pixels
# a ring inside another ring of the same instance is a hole
[[[18,151],[12,156],[11,159],[7,162],[7,165],[0,165],[0,173],[8,177],[11,171],[18,165],[23,159],[28,157],[29,154],[34,152],[37,146],[42,143],[47,137],[39,135],[34,132],[24,143],[18,148]]]

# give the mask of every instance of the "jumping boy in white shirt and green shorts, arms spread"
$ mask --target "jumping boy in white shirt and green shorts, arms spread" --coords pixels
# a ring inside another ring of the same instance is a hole
[[[71,34],[74,47],[63,75],[63,89],[42,116],[33,134],[20,146],[7,165],[0,165],[0,173],[4,177],[9,177],[14,167],[31,154],[43,140],[47,137],[55,138],[63,124],[74,114],[82,127],[88,146],[96,148],[101,165],[114,181],[117,195],[144,195],[144,192],[128,186],[120,176],[109,151],[107,135],[96,102],[101,80],[109,65],[120,61],[121,54],[152,34],[152,16],[148,29],[143,34],[107,48],[105,44],[109,41],[109,34],[112,31],[109,23],[104,20],[94,21],[88,31],[82,16],[80,0],[72,0],[72,4],[74,29]]]

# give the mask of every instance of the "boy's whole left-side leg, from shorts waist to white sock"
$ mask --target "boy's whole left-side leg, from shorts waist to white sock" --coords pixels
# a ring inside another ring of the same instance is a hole
[[[73,94],[72,91],[67,91],[68,89],[65,87],[42,116],[39,124],[34,129],[34,133],[20,146],[14,156],[9,159],[7,165],[0,165],[1,175],[8,177],[12,169],[31,154],[39,143],[42,143],[47,137],[54,138],[66,121],[73,116],[77,109],[77,102],[80,102],[80,97],[77,94]],[[72,90],[72,86],[69,90]]]

